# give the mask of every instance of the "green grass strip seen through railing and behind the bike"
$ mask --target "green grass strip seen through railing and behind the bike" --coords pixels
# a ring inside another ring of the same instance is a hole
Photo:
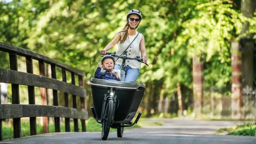
[[[140,128],[144,127],[147,125],[151,126],[158,126],[162,125],[161,122],[148,122],[146,118],[141,118],[138,121],[138,124],[134,124],[131,127],[125,127],[125,129],[128,128]],[[78,120],[78,127],[79,127],[79,132],[82,131],[82,126],[81,122]],[[37,134],[42,134],[43,133],[43,128],[42,125],[37,124],[36,125],[37,129]],[[90,117],[88,120],[86,120],[86,131],[87,132],[101,132],[101,124],[97,123],[96,120],[92,117]],[[74,132],[74,123],[70,122],[70,131]],[[9,126],[7,122],[2,122],[2,132],[3,132],[3,140],[13,138],[13,128],[12,126]],[[49,124],[49,132],[55,132],[54,124]],[[60,124],[60,132],[65,132],[65,124],[61,123]],[[116,129],[110,128],[110,132],[116,132]],[[30,125],[29,125],[29,120],[24,122],[21,122],[21,136],[29,136],[30,135]]]

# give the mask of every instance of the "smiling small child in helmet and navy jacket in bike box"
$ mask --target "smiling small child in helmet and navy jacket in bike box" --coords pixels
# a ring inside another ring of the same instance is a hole
[[[103,79],[103,80],[117,80],[120,81],[120,78],[117,72],[112,72],[115,66],[115,59],[111,55],[104,55],[101,58],[101,62],[98,62],[98,68],[96,68],[94,73],[94,78]],[[106,72],[101,72],[101,67],[106,70]]]

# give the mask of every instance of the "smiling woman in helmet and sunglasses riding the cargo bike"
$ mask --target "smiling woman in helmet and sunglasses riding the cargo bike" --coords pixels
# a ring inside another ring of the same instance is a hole
[[[139,10],[130,10],[126,16],[127,23],[124,28],[118,32],[115,38],[100,51],[105,55],[107,50],[110,50],[117,44],[117,55],[123,54],[127,51],[127,56],[134,58],[136,56],[142,57],[144,63],[147,63],[145,39],[143,34],[137,32],[137,28],[142,20],[142,15]],[[116,60],[115,69],[120,69],[122,59]],[[126,60],[125,63],[125,82],[135,82],[139,76],[139,68],[141,63],[136,60]]]

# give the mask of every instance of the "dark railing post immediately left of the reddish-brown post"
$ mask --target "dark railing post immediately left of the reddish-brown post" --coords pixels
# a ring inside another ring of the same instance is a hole
[[[32,56],[26,57],[26,67],[27,72],[33,74],[33,62]],[[35,88],[34,86],[28,86],[28,104],[36,104],[35,103]],[[30,135],[36,135],[36,117],[30,117]]]

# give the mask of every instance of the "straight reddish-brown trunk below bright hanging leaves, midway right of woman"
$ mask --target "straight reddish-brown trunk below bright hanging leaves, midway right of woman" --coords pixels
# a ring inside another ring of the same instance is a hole
[[[200,58],[193,57],[193,95],[194,95],[194,117],[202,114],[203,105],[203,63]]]

